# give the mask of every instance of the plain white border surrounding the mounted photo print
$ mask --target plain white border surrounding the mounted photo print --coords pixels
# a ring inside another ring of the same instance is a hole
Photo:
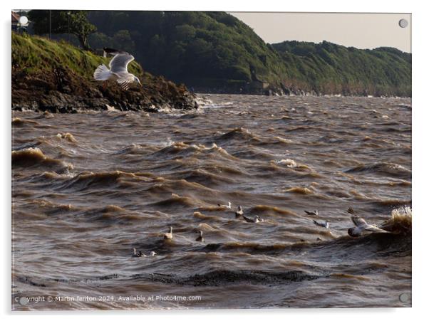
[[[428,184],[428,157],[427,149],[428,125],[428,1],[414,0],[355,0],[355,1],[335,1],[335,0],[295,0],[295,1],[201,1],[201,0],[180,0],[180,1],[100,1],[100,0],[17,0],[10,1],[9,4],[1,2],[1,27],[2,31],[2,49],[1,54],[1,98],[3,104],[0,106],[2,134],[2,157],[1,157],[1,204],[3,214],[3,240],[4,246],[1,247],[2,257],[5,258],[1,264],[1,276],[4,282],[1,289],[1,312],[6,319],[11,315],[14,320],[21,320],[25,317],[31,317],[32,320],[57,320],[58,314],[63,320],[76,320],[83,315],[91,315],[91,318],[103,320],[115,320],[118,317],[126,315],[127,318],[155,319],[155,318],[175,318],[177,320],[218,320],[219,317],[231,317],[240,319],[246,317],[247,320],[257,320],[260,317],[282,319],[311,318],[319,320],[362,320],[362,319],[381,319],[404,320],[407,318],[420,319],[425,315],[425,300],[428,296],[428,282],[426,274],[428,273],[428,250],[426,248],[425,232],[429,213],[425,211],[425,197],[427,197],[425,188]],[[11,265],[10,265],[10,213],[11,213],[11,56],[10,56],[10,10],[11,9],[104,9],[104,10],[200,10],[200,11],[319,11],[319,12],[389,12],[389,13],[411,13],[413,14],[413,307],[396,309],[283,309],[283,310],[191,310],[191,311],[109,311],[109,312],[37,312],[31,315],[23,313],[10,312],[11,304]]]

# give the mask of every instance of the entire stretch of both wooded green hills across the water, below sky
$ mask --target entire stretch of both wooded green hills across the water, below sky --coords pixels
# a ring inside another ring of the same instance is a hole
[[[150,73],[197,90],[262,93],[259,80],[286,93],[411,95],[411,54],[395,48],[270,45],[224,12],[88,11],[88,21],[93,48],[129,51]]]

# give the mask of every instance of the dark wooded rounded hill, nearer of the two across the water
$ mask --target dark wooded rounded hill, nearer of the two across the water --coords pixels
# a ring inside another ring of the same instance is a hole
[[[243,84],[260,80],[279,84],[285,68],[276,51],[246,24],[223,12],[91,11],[98,28],[93,46],[133,48],[150,72],[190,85]],[[118,42],[118,38],[124,39]]]

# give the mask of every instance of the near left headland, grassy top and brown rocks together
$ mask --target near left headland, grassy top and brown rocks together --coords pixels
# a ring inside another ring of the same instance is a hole
[[[93,72],[108,59],[65,42],[12,33],[12,109],[77,112],[79,109],[145,110],[163,108],[190,110],[197,107],[195,95],[185,85],[143,72],[133,61],[128,66],[142,86],[122,90],[114,81],[93,80]]]

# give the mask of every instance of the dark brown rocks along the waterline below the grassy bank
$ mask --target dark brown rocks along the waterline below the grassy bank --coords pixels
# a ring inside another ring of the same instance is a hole
[[[78,112],[78,110],[192,110],[198,107],[196,96],[184,85],[175,85],[161,77],[152,77],[142,87],[122,90],[111,82],[103,86],[69,75],[53,79],[50,75],[21,78],[12,73],[12,110],[37,112]],[[49,79],[51,78],[51,79]]]

